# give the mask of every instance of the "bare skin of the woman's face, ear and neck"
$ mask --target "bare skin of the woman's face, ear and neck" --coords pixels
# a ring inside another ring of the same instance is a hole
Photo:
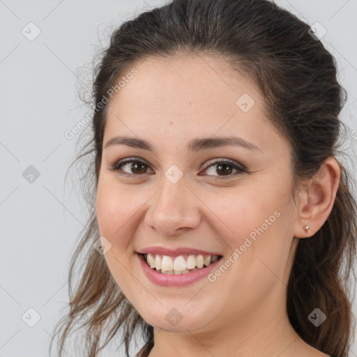
[[[154,327],[150,356],[327,356],[301,340],[285,306],[303,226],[312,236],[333,207],[340,181],[335,158],[294,202],[289,143],[268,123],[252,82],[223,59],[208,56],[150,58],[133,67],[137,75],[109,102],[104,143],[116,135],[139,137],[155,153],[123,144],[104,149],[96,209],[100,235],[112,244],[105,254],[109,270]],[[255,100],[248,112],[236,105],[243,93]],[[260,151],[238,146],[196,154],[186,150],[196,137],[229,135]],[[131,163],[121,167],[135,178],[109,170],[133,157],[147,164],[138,171],[130,169]],[[227,179],[213,165],[227,158],[245,165],[249,174],[231,167]],[[183,173],[177,183],[165,177],[172,165]],[[160,287],[138,264],[135,252],[151,245],[220,252],[227,259],[275,211],[279,218],[214,282],[204,278],[185,287]],[[173,308],[182,316],[176,326],[165,319]]]

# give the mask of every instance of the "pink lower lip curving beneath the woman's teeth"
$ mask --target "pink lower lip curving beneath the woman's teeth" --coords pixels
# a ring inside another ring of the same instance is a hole
[[[158,273],[155,269],[152,269],[144,260],[144,255],[137,254],[140,264],[144,270],[146,277],[153,283],[160,285],[161,287],[183,287],[188,284],[197,282],[207,276],[220,262],[220,259],[216,260],[213,264],[202,268],[199,271],[192,271],[191,273],[181,274],[181,275],[167,275],[163,273]]]

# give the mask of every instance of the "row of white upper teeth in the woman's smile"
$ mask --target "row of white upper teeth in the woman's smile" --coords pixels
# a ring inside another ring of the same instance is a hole
[[[196,266],[202,268],[217,259],[218,255],[189,255],[187,260],[182,255],[170,257],[169,255],[152,255],[149,253],[146,256],[146,261],[151,268],[161,269],[162,271],[185,271],[186,269],[194,269]]]

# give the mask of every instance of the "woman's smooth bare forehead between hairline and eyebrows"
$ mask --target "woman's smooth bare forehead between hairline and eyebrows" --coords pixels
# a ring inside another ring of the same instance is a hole
[[[181,144],[179,138],[238,135],[264,147],[276,139],[255,84],[223,59],[150,58],[132,68],[137,74],[109,102],[104,142],[113,135],[131,135],[174,145]],[[248,110],[242,109],[244,102]]]

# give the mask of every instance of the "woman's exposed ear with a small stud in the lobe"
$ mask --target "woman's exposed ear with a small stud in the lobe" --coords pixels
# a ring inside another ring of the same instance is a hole
[[[309,227],[307,237],[315,234],[324,225],[335,203],[340,176],[338,161],[330,157],[310,179],[307,187],[298,193],[294,236],[305,238],[305,225]]]

